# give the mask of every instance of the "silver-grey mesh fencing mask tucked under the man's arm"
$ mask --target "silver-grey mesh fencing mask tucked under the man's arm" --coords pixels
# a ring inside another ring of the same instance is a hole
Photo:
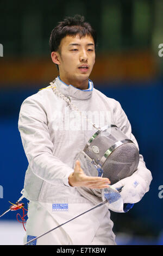
[[[134,142],[116,125],[105,126],[92,135],[76,160],[80,161],[80,166],[86,175],[102,176],[111,182],[109,189],[91,190],[77,187],[77,190],[90,200],[93,194],[103,200],[107,198],[111,210],[124,212],[120,193],[111,185],[132,175],[137,169],[139,149]]]

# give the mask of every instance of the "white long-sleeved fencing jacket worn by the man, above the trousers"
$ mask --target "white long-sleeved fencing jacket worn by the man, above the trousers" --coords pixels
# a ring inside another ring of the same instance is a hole
[[[70,98],[79,111],[89,113],[89,117],[92,113],[95,114],[95,120],[91,120],[95,123],[97,121],[97,126],[101,123],[106,125],[109,120],[137,145],[120,103],[93,88],[91,80],[89,89],[80,90],[71,85],[67,86],[58,76],[55,86]],[[105,117],[101,118],[102,116]],[[44,203],[87,202],[76,187],[68,184],[68,176],[73,172],[74,160],[97,130],[89,121],[86,121],[87,125],[83,125],[77,117],[66,106],[65,100],[54,93],[51,86],[39,90],[23,101],[18,129],[29,163],[23,193],[28,200]],[[98,117],[102,120],[99,121]],[[136,173],[145,181],[143,190],[146,193],[152,175],[146,168],[142,155]]]

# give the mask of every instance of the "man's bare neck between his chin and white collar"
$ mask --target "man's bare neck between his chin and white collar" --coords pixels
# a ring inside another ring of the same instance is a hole
[[[61,75],[59,75],[60,77],[60,80],[64,83],[67,84],[67,86],[69,86],[71,84],[71,86],[73,87],[76,87],[80,90],[86,90],[89,88],[89,80],[86,79],[84,81],[77,81],[77,80],[73,80],[73,79],[69,79],[69,78],[65,78],[65,77],[62,77]]]

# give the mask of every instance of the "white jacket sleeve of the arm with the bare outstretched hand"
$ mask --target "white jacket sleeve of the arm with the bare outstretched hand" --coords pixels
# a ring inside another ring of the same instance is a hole
[[[33,173],[51,184],[68,184],[73,169],[53,155],[55,145],[47,125],[47,114],[41,100],[30,96],[22,103],[18,130]]]

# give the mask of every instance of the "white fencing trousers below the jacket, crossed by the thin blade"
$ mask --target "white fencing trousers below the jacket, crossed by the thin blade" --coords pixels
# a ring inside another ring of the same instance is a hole
[[[29,203],[24,243],[92,208],[91,204],[70,204],[66,212],[52,212],[52,204]],[[113,223],[105,205],[62,225],[37,239],[36,245],[116,245]]]

